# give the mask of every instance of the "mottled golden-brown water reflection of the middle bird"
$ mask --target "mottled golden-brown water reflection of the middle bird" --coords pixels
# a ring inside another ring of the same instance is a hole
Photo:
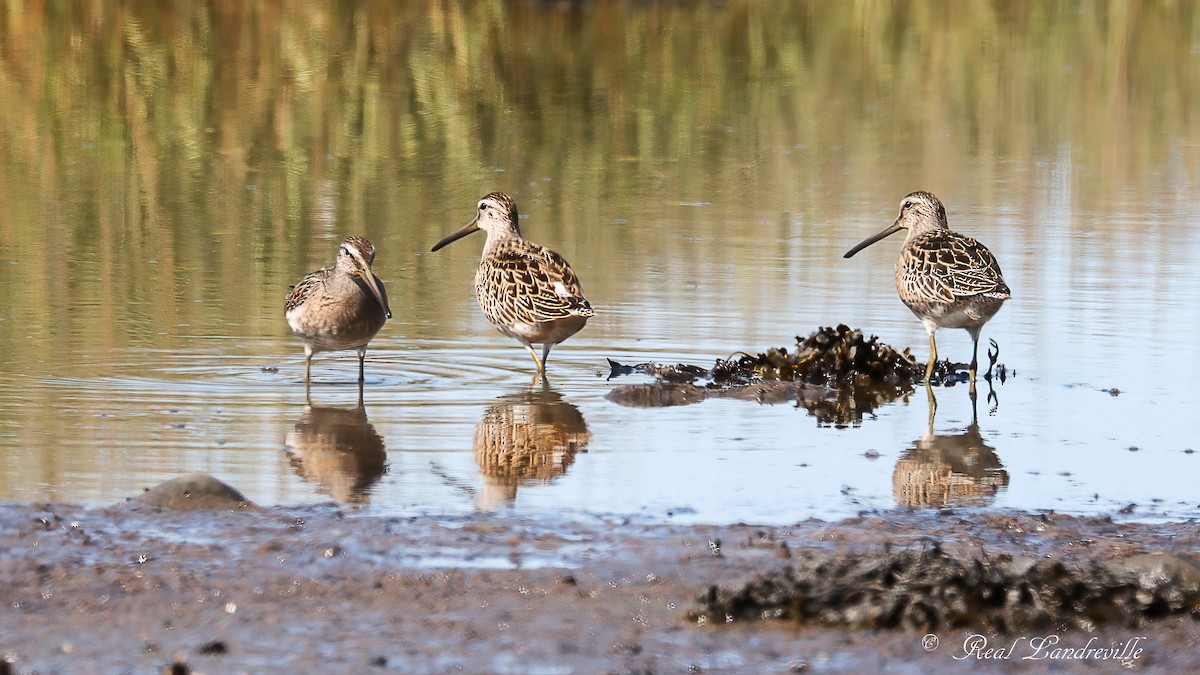
[[[583,413],[546,380],[528,392],[500,396],[475,428],[475,462],[484,477],[475,506],[496,510],[516,498],[518,485],[565,474],[590,441]]]

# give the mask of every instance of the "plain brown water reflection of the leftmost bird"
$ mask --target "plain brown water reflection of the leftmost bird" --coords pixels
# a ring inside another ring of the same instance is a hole
[[[383,437],[367,420],[361,394],[356,408],[314,406],[288,432],[292,466],[338,503],[362,504],[386,472]]]

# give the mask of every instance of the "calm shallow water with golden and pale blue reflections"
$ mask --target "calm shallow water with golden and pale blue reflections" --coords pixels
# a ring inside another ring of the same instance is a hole
[[[1192,5],[4,5],[0,500],[205,471],[380,514],[1200,516]],[[844,429],[605,399],[644,381],[608,357],[820,324],[925,358],[900,238],[841,257],[918,189],[1013,289],[977,426],[964,387],[930,430],[924,394]],[[598,310],[546,390],[474,304],[482,235],[428,253],[493,190]],[[317,358],[310,408],[283,298],[350,233],[395,317],[364,408],[353,353]]]

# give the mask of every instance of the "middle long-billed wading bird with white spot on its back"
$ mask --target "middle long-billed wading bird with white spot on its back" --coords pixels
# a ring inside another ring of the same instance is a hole
[[[433,250],[479,229],[487,241],[475,271],[475,299],[492,325],[529,351],[541,377],[550,350],[583,328],[592,305],[563,256],[521,237],[517,205],[508,195],[480,199],[475,220]],[[541,345],[540,359],[534,345]]]

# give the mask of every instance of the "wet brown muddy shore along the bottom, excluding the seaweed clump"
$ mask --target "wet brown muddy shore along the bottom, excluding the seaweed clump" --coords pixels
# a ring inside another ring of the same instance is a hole
[[[992,646],[1021,640],[983,659],[965,646],[978,632],[967,628],[938,631],[926,651],[906,629],[714,625],[690,613],[706,590],[786,569],[800,554],[936,544],[1067,563],[1165,552],[1195,566],[1196,530],[953,509],[766,527],[2,504],[0,656],[13,673],[1178,673],[1200,657],[1194,615],[1057,638],[1127,645],[1123,661],[1098,661],[1049,658],[1048,645],[1038,659],[1028,640],[1054,629],[985,635]]]

